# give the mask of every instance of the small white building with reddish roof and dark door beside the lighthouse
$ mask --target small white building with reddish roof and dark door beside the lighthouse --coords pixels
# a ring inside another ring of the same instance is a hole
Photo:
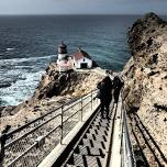
[[[76,69],[90,69],[94,66],[94,62],[91,59],[88,53],[81,48],[71,55],[74,59],[74,68]]]

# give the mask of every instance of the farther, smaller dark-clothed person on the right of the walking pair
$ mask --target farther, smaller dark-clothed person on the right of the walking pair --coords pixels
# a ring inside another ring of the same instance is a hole
[[[119,101],[119,96],[121,88],[123,87],[124,82],[122,79],[120,79],[119,76],[115,76],[113,79],[113,98],[114,98],[114,103],[118,103]]]

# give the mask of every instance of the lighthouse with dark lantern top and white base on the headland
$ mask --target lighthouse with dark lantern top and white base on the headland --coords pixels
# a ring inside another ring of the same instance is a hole
[[[67,45],[65,45],[63,42],[60,45],[58,45],[57,56],[57,66],[59,73],[71,69],[71,57],[68,55]]]

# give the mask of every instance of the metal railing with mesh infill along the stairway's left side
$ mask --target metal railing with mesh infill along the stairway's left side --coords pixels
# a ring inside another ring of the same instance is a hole
[[[75,127],[99,105],[97,91],[65,103],[0,136],[0,166],[37,166]]]

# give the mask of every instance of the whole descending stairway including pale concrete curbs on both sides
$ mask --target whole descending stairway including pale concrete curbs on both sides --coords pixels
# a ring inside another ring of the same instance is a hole
[[[65,138],[38,167],[135,167],[125,119],[121,96],[118,103],[111,102],[109,119],[101,116],[98,107],[80,122],[81,129],[75,127],[74,132],[78,131],[70,142]]]

